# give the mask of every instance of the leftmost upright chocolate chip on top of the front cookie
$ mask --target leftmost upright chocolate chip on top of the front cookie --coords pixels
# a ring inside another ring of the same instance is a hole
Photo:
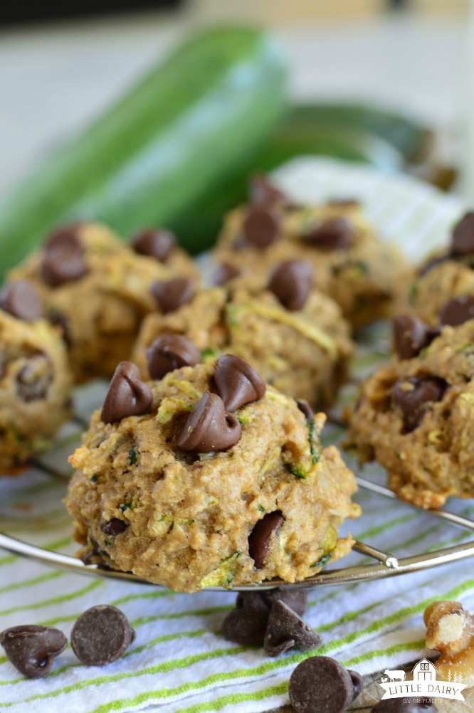
[[[120,361],[103,402],[101,421],[113,424],[126,416],[146,414],[152,401],[153,394],[140,380],[138,366],[131,361]]]

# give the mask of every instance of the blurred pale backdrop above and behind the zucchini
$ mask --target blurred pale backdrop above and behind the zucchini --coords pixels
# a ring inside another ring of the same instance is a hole
[[[429,140],[401,168],[474,200],[472,14],[469,0],[2,3],[0,198],[190,32],[244,21],[282,40],[290,101],[356,101],[415,120]],[[391,170],[391,138],[378,139],[361,153]]]

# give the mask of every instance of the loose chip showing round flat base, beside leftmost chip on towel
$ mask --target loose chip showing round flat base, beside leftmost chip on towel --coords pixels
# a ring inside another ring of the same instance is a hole
[[[125,614],[116,607],[100,604],[78,618],[71,631],[71,646],[84,664],[105,666],[120,658],[134,638]]]

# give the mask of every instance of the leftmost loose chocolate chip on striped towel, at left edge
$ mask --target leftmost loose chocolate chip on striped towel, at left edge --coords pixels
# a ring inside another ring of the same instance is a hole
[[[67,643],[63,632],[50,626],[14,626],[0,633],[7,657],[29,678],[42,678],[51,672],[54,657]]]

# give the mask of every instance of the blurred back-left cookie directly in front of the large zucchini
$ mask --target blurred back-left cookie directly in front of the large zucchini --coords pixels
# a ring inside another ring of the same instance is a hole
[[[9,279],[33,282],[81,382],[110,378],[128,359],[141,320],[158,307],[152,290],[177,275],[196,275],[195,267],[165,231],[140,232],[130,247],[104,225],[76,223],[49,235]]]

